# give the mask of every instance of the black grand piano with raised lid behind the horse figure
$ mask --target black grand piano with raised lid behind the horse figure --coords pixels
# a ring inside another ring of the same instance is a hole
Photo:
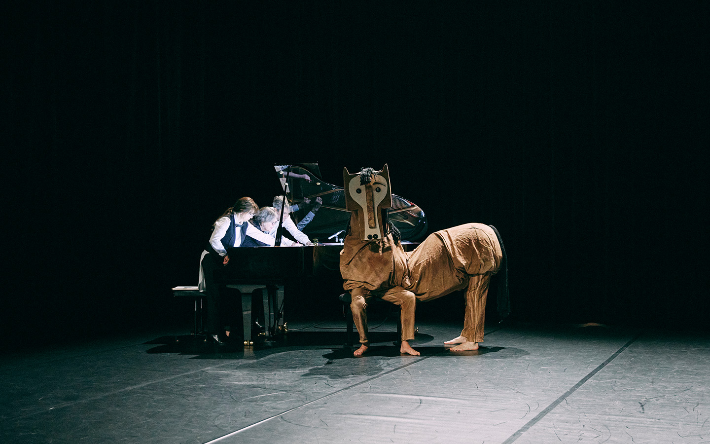
[[[298,298],[303,281],[342,283],[339,254],[350,220],[350,212],[345,208],[344,189],[322,180],[317,163],[277,165],[274,168],[285,196],[289,202],[298,205],[291,213],[296,223],[307,216],[317,197],[322,199],[322,207],[301,229],[313,239],[313,247],[227,249],[229,265],[224,268],[224,284],[241,293],[247,344],[260,339],[260,334],[263,335],[261,339],[275,339],[285,331],[285,305]],[[390,221],[400,230],[403,247],[412,248],[427,232],[426,216],[420,207],[403,197],[392,195],[392,202]],[[259,289],[261,298],[253,298],[253,291]],[[333,297],[339,291],[342,288],[334,286]],[[253,307],[253,303],[262,303],[263,308]],[[257,313],[259,316],[255,319]],[[253,329],[255,320],[265,327],[264,332]]]

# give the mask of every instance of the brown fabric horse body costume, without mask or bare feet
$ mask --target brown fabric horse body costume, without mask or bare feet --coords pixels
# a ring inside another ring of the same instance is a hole
[[[464,224],[430,234],[407,253],[391,234],[363,242],[353,212],[340,256],[343,288],[351,293],[353,320],[360,342],[367,340],[367,300],[381,297],[401,306],[402,340],[414,339],[416,300],[432,300],[466,288],[461,336],[484,340],[486,296],[491,276],[501,268],[498,237],[486,224]],[[415,298],[416,300],[413,300]]]

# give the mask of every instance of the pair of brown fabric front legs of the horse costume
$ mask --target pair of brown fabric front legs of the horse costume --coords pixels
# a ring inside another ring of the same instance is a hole
[[[376,296],[366,296],[367,291],[354,289],[350,293],[350,310],[353,313],[353,322],[360,336],[360,343],[365,344],[367,339],[367,303]],[[414,317],[417,309],[417,298],[414,293],[402,287],[390,288],[381,299],[400,306],[400,320],[402,323],[402,340],[414,339]]]

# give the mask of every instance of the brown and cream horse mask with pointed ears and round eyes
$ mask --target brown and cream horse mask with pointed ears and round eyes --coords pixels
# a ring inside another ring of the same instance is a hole
[[[362,168],[359,174],[350,174],[347,168],[344,168],[343,181],[345,206],[360,215],[358,224],[361,239],[363,241],[383,239],[386,232],[383,211],[392,206],[387,164],[381,171]]]

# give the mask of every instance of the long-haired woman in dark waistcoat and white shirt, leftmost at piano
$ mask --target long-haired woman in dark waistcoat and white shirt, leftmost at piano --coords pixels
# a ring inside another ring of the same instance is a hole
[[[236,310],[229,310],[229,300],[224,298],[217,281],[222,277],[223,267],[229,263],[226,254],[228,247],[242,247],[248,239],[255,239],[264,245],[273,247],[274,238],[257,229],[249,220],[258,211],[258,206],[251,197],[242,197],[228,208],[214,222],[212,236],[200,258],[200,291],[207,300],[205,329],[208,340],[222,344],[229,337],[231,318]]]

